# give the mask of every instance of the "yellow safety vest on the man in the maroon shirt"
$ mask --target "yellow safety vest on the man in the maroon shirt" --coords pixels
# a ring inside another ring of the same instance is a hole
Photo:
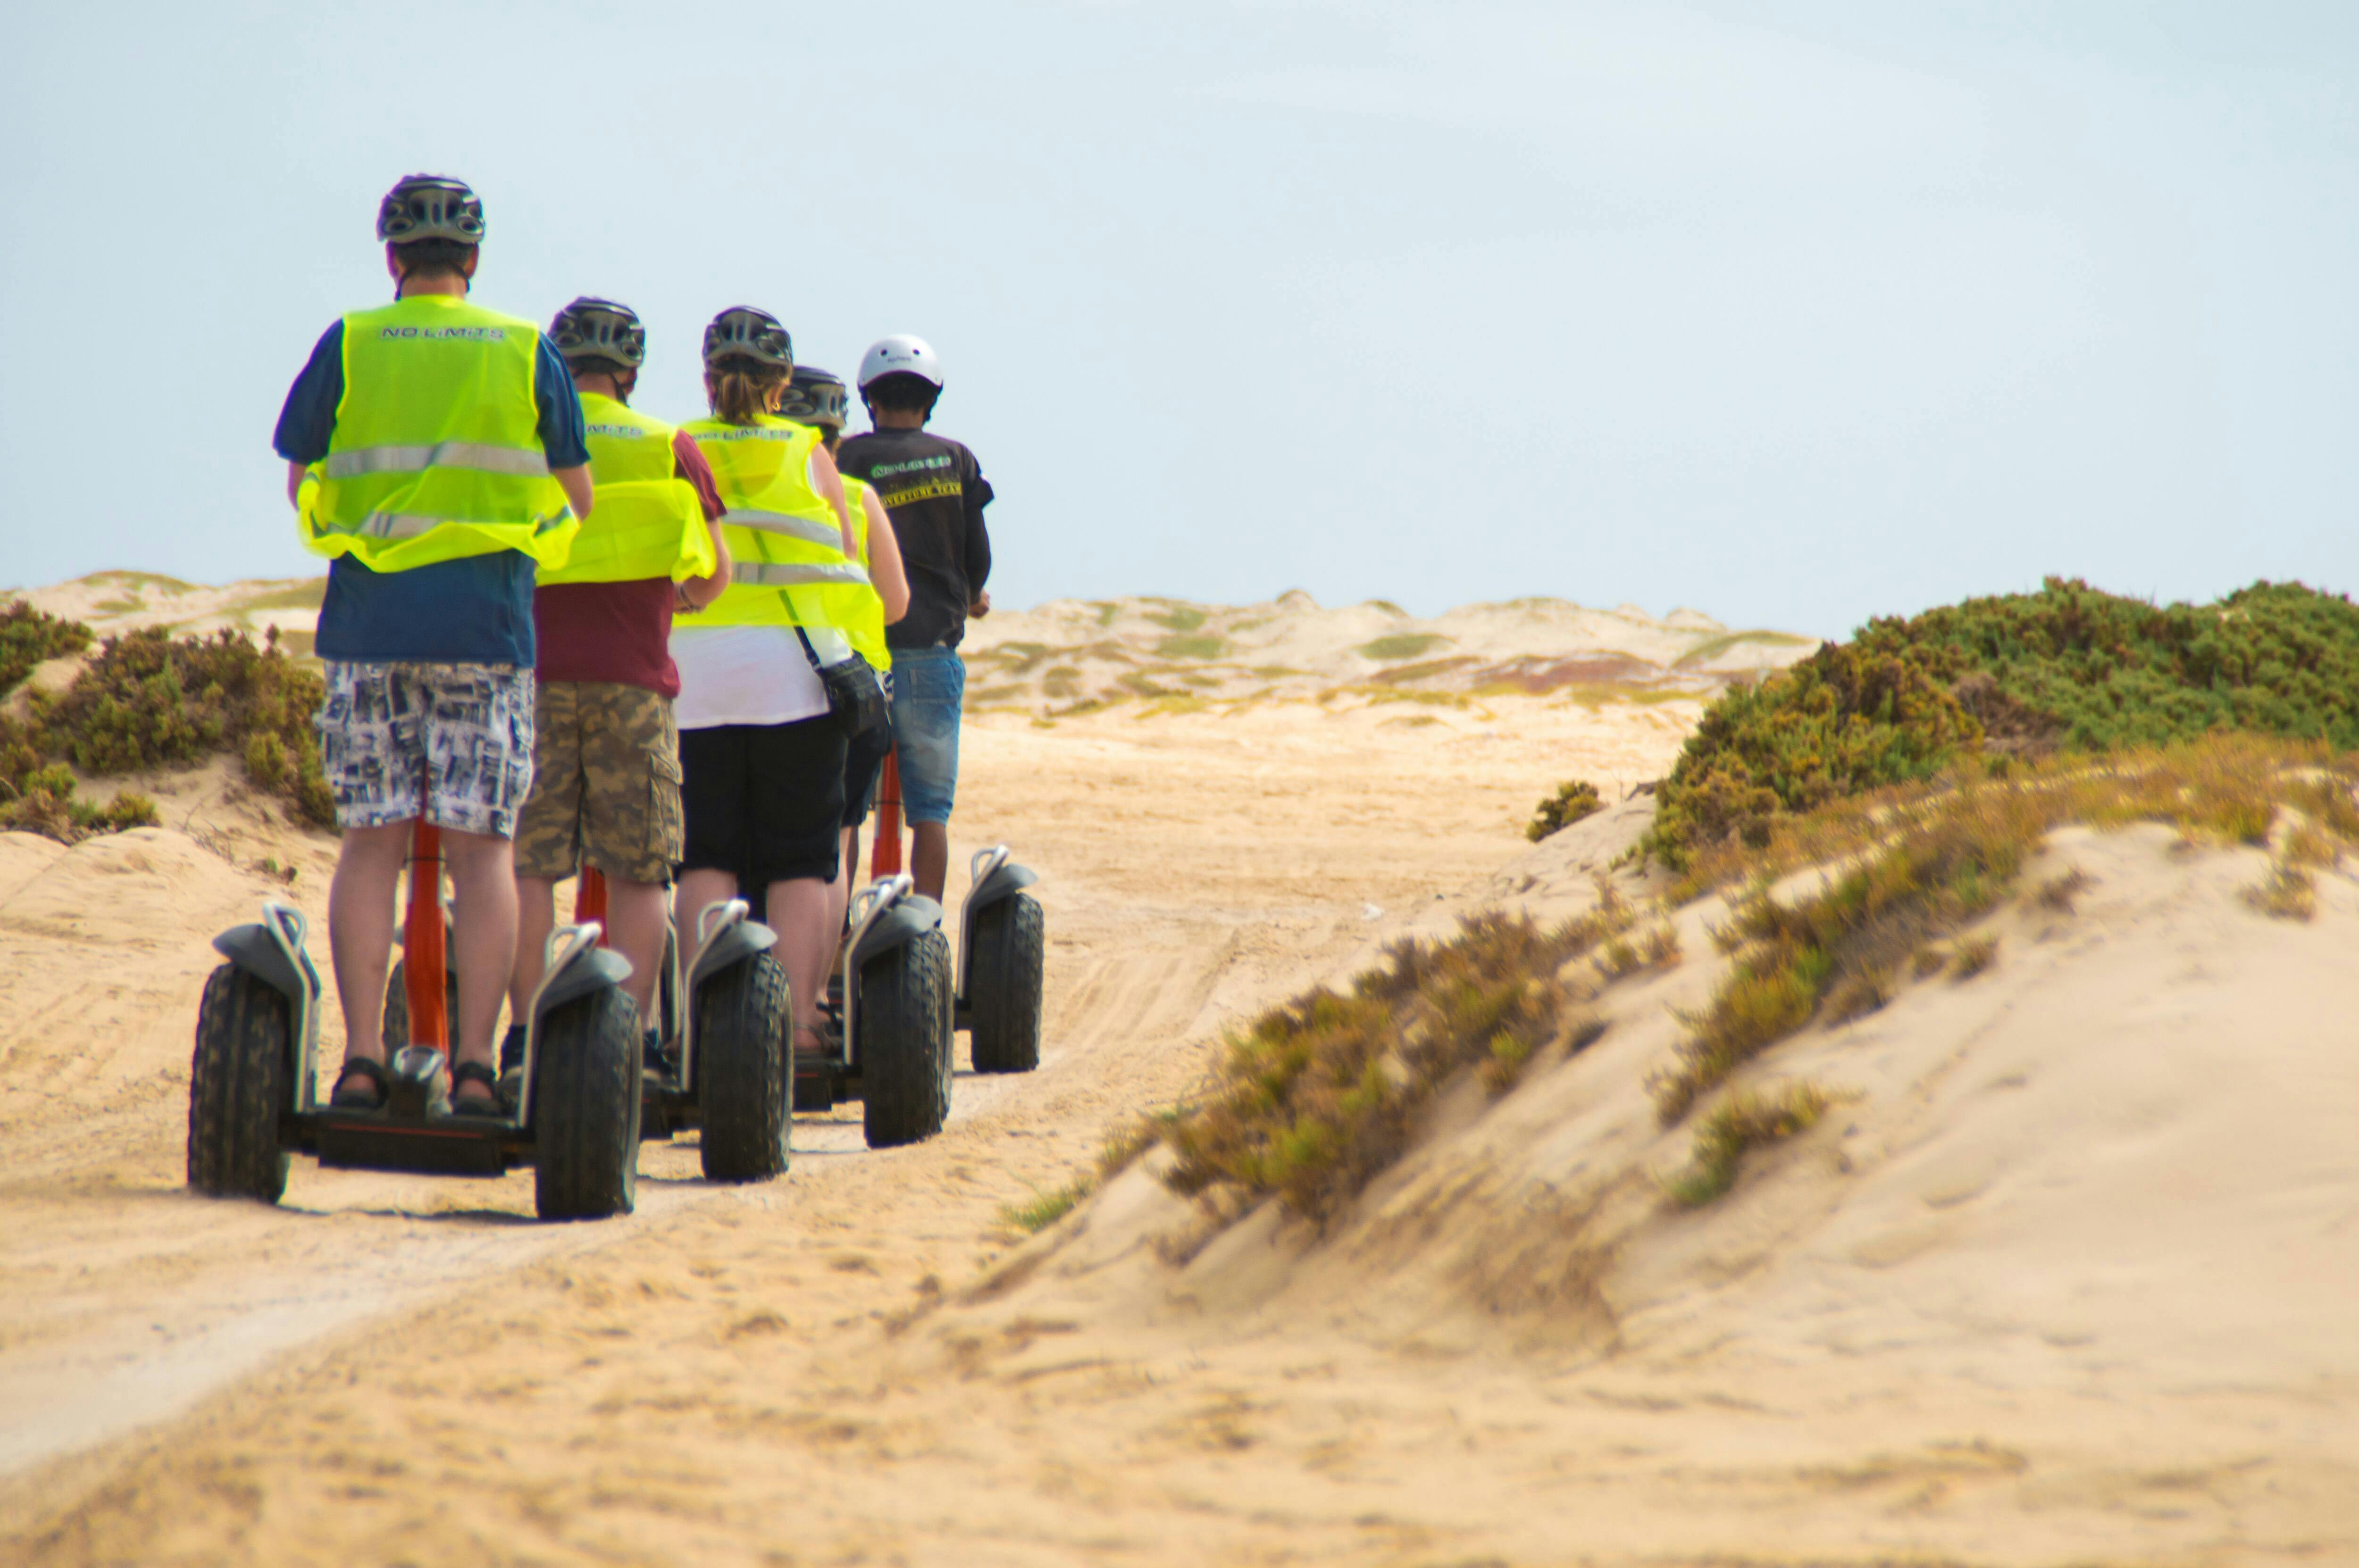
[[[696,486],[679,479],[672,427],[599,391],[583,394],[583,420],[597,505],[573,554],[540,582],[682,582],[712,571],[712,531]]]

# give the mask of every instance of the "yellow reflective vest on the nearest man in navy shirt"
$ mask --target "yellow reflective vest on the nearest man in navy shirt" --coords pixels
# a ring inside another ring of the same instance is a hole
[[[302,540],[370,571],[521,549],[564,566],[580,523],[540,450],[540,328],[458,295],[344,316],[344,398],[297,493]]]

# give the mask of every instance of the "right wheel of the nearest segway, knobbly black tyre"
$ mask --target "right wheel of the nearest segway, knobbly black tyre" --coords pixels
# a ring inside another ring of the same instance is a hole
[[[528,1092],[535,1212],[630,1214],[639,1200],[639,1009],[618,986],[540,1016]]]

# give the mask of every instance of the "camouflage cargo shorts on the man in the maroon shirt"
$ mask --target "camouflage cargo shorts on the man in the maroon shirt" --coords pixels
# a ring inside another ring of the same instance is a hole
[[[540,681],[517,875],[561,882],[585,858],[625,882],[670,879],[679,861],[679,731],[668,696],[616,681]]]

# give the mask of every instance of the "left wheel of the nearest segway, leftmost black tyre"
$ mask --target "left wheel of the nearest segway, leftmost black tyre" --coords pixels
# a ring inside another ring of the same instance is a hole
[[[290,1103],[293,1009],[236,964],[205,981],[189,1063],[189,1186],[208,1198],[278,1203],[288,1155],[278,1113]]]

